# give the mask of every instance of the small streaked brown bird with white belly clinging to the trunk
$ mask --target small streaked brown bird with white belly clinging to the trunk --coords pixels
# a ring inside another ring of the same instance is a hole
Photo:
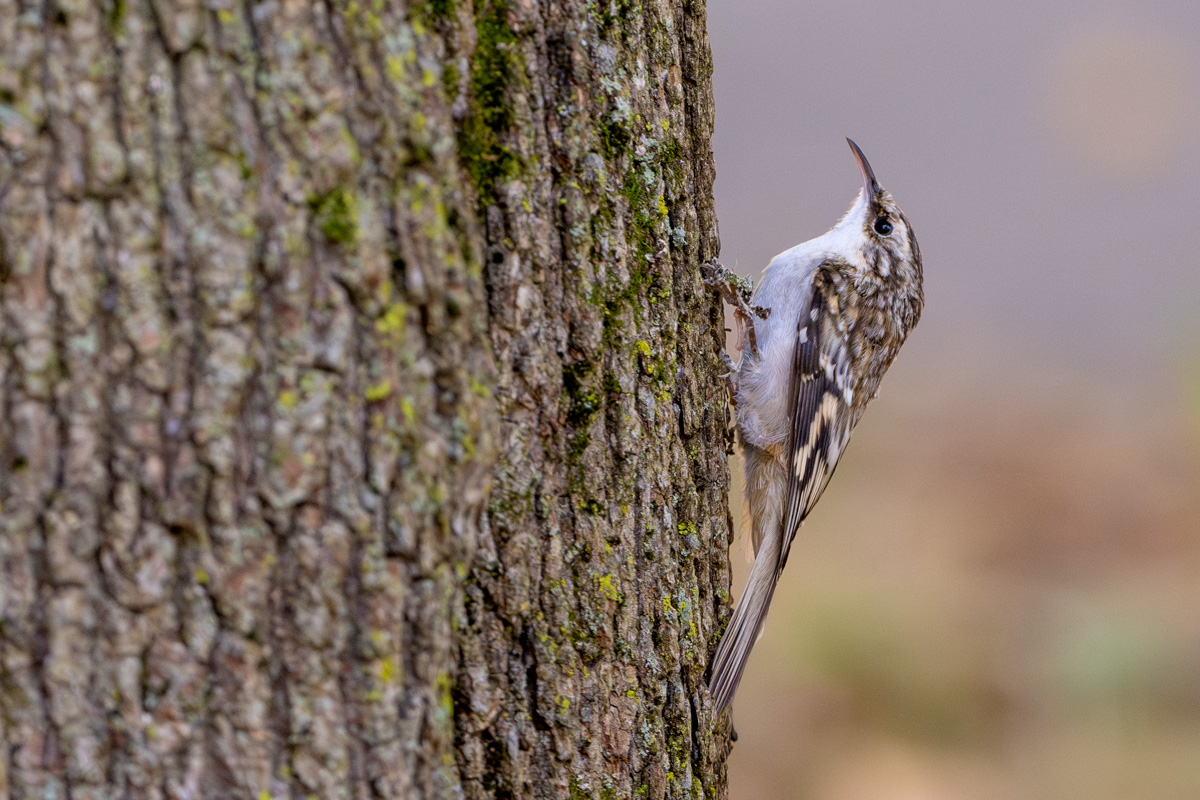
[[[838,224],[773,258],[752,294],[719,265],[710,281],[743,332],[727,379],[755,552],[713,658],[716,712],[732,702],[762,634],[800,523],[924,307],[912,225],[859,146],[846,142],[863,188]]]

